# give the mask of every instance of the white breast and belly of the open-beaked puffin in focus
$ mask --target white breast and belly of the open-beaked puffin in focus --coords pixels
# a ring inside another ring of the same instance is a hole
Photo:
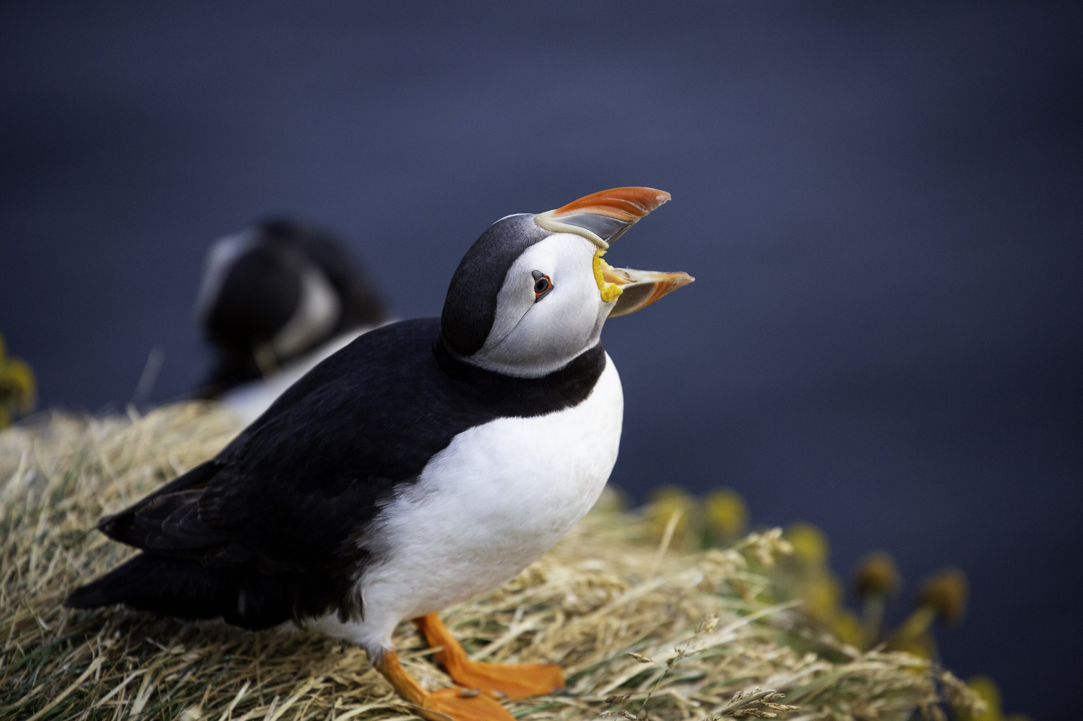
[[[501,418],[455,436],[369,535],[366,548],[382,561],[360,581],[364,621],[323,630],[387,647],[400,620],[514,577],[598,499],[623,414],[621,378],[606,355],[590,396],[574,408]]]

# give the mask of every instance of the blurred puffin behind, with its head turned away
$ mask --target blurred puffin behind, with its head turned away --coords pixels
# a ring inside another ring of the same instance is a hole
[[[223,402],[245,423],[321,360],[388,322],[342,244],[289,219],[211,246],[196,318],[216,360],[195,396]]]

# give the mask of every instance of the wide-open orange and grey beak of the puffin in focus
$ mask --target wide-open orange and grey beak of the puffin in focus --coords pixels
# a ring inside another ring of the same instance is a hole
[[[668,193],[651,187],[615,187],[538,213],[534,222],[553,233],[582,235],[598,247],[595,279],[603,301],[616,300],[609,314],[612,318],[635,313],[695,280],[688,273],[634,271],[602,260],[611,242],[668,199]]]

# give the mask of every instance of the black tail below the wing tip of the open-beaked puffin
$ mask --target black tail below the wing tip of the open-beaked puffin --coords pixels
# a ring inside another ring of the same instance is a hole
[[[249,629],[290,620],[293,579],[255,568],[208,568],[198,562],[141,553],[102,578],[77,588],[68,608],[123,604],[177,618],[217,618]]]

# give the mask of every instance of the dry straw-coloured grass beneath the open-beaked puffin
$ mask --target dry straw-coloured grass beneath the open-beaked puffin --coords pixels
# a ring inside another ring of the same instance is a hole
[[[61,607],[130,553],[88,533],[99,516],[236,430],[223,410],[186,404],[0,434],[0,719],[416,718],[350,645]],[[859,652],[772,604],[762,562],[785,550],[775,535],[705,553],[665,553],[643,535],[638,516],[598,508],[517,579],[445,614],[475,658],[563,666],[570,692],[509,704],[516,717],[906,719],[973,705],[929,661]],[[423,684],[448,685],[409,624],[396,643]]]

